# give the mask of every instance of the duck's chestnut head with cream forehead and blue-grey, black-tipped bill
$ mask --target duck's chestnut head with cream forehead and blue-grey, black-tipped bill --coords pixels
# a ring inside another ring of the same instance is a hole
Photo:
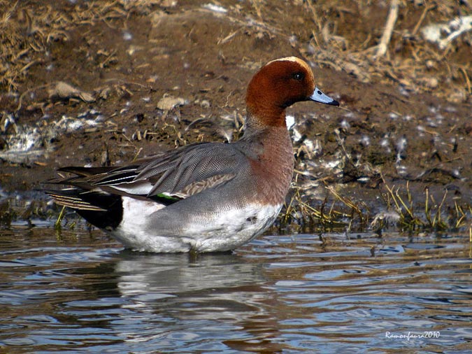
[[[246,94],[248,118],[262,125],[285,125],[285,108],[300,101],[339,106],[315,85],[310,66],[297,57],[272,60],[252,77]]]

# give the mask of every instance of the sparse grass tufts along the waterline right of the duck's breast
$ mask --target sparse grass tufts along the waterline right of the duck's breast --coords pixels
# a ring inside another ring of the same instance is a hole
[[[339,230],[351,232],[356,229],[365,230],[370,222],[370,229],[381,234],[385,229],[403,232],[456,232],[469,229],[472,220],[472,207],[445,203],[448,191],[445,190],[440,200],[434,199],[429,188],[424,189],[424,199],[418,200],[410,191],[409,183],[405,187],[389,185],[382,176],[386,192],[379,190],[379,197],[384,201],[386,212],[369,215],[369,208],[363,201],[355,201],[338,192],[330,185],[324,185],[329,197],[313,206],[313,202],[301,193],[301,188],[295,186],[292,197],[280,216],[283,228],[296,232],[314,232]],[[295,179],[296,182],[296,179]]]

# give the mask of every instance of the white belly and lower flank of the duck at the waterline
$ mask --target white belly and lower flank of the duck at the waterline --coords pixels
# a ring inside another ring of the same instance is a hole
[[[282,208],[282,204],[249,204],[245,208],[222,211],[212,218],[189,223],[178,235],[159,236],[159,230],[148,232],[143,225],[146,218],[152,217],[152,213],[164,206],[127,199],[123,198],[123,220],[110,234],[127,248],[155,253],[232,250],[264,232],[276,220]]]

